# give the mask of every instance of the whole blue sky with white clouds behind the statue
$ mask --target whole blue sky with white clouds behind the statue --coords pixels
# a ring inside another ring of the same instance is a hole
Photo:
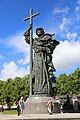
[[[80,68],[80,0],[0,0],[0,80],[24,77],[29,73],[29,45],[23,33],[29,27],[29,9],[40,15],[37,27],[55,34],[60,42],[53,53],[56,76]]]

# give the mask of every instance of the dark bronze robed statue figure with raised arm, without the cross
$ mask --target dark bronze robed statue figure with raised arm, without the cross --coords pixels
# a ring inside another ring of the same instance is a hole
[[[30,44],[30,30],[32,26],[24,33],[26,43]],[[45,34],[43,28],[36,29],[37,38],[32,39],[33,63],[32,63],[32,84],[34,90],[32,94],[51,95],[55,87],[55,71],[52,63],[52,54],[55,47],[59,44],[51,34]]]

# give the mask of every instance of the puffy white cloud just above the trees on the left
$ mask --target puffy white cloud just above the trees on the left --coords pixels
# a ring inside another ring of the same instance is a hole
[[[11,61],[10,63],[5,63],[3,69],[0,72],[0,79],[7,80],[8,78],[23,77],[29,73],[29,67],[27,69],[19,67]]]

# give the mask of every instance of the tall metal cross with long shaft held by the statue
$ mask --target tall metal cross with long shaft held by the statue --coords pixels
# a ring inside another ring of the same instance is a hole
[[[30,9],[30,15],[24,19],[24,21],[26,20],[30,20],[30,25],[33,25],[33,17],[38,16],[39,13],[33,14],[33,10]],[[32,95],[32,67],[33,67],[33,48],[32,48],[32,39],[33,39],[33,31],[32,31],[32,27],[30,29],[30,96]]]

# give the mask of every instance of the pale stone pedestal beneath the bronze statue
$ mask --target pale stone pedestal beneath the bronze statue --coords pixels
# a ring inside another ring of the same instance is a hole
[[[24,114],[47,114],[47,102],[51,99],[54,103],[53,112],[60,112],[60,105],[53,97],[48,96],[31,96],[25,102]]]

